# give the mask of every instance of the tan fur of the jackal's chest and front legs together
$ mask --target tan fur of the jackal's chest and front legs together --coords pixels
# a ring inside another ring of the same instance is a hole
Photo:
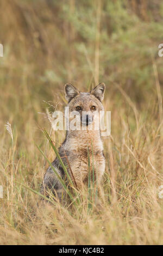
[[[105,161],[103,156],[103,144],[99,131],[73,131],[67,147],[73,148],[71,150],[73,157],[70,158],[70,166],[76,179],[77,186],[81,187],[82,182],[86,181],[88,177],[87,147],[89,148],[90,153],[91,171],[93,148],[94,169],[98,176],[98,180],[100,181],[105,170]]]

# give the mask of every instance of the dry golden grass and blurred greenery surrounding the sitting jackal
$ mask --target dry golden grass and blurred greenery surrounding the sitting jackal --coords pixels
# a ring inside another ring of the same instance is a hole
[[[160,245],[163,2],[1,0],[0,17],[0,243]],[[64,109],[67,82],[104,82],[111,111],[102,206],[89,214],[85,203],[39,209],[27,188],[39,191],[48,166],[36,144],[55,157],[40,127],[56,147],[64,139],[48,118]]]

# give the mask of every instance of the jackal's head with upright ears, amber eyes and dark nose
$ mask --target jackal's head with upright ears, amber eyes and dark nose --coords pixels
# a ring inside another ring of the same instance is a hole
[[[102,105],[104,92],[104,83],[98,84],[90,93],[81,93],[72,84],[65,85],[65,96],[68,101],[69,112],[78,114],[82,126],[92,124],[96,119],[97,113],[104,111]]]

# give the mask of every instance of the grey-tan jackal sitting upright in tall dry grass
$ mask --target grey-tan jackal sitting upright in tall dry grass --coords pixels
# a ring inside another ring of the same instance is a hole
[[[62,161],[65,166],[67,166],[68,173],[71,178],[75,180],[79,190],[88,180],[88,150],[90,156],[90,169],[91,172],[92,168],[94,169],[95,180],[96,182],[98,181],[98,184],[100,184],[105,170],[105,157],[103,154],[101,131],[99,129],[89,130],[89,126],[95,122],[95,115],[99,113],[99,111],[104,111],[102,105],[104,92],[104,83],[98,84],[98,86],[96,86],[90,93],[79,92],[79,90],[72,86],[72,84],[65,85],[65,96],[68,101],[67,106],[69,107],[69,112],[78,112],[81,125],[84,126],[85,129],[68,130],[66,132],[65,141],[61,144],[58,151],[62,157]],[[58,158],[56,158],[52,164],[61,178],[65,180],[65,172],[64,169],[62,169]],[[52,190],[54,195],[59,199],[61,199],[61,196],[64,193],[62,185],[51,167],[48,167],[44,175],[41,193],[46,193],[48,190]]]

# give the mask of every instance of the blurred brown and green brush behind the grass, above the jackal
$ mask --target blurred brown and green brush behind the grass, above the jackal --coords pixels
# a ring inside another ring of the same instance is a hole
[[[8,119],[38,121],[42,100],[55,103],[67,82],[104,82],[119,104],[116,82],[142,110],[156,95],[152,57],[162,84],[161,0],[1,0],[0,16],[1,129]]]

